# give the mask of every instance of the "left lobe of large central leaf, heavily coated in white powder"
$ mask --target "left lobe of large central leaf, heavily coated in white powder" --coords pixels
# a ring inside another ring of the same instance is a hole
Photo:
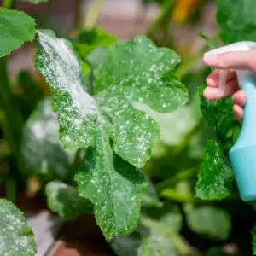
[[[81,62],[65,39],[42,31],[38,32],[38,41],[41,48],[35,67],[54,94],[52,107],[58,113],[63,147],[87,148],[94,142],[98,110],[94,99],[84,90]]]

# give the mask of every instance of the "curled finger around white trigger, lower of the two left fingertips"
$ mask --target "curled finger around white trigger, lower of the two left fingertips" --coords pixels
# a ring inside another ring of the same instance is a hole
[[[233,79],[226,83],[224,93],[220,97],[218,87],[207,86],[204,90],[204,96],[207,100],[218,100],[225,96],[233,95],[239,89],[237,80]]]

